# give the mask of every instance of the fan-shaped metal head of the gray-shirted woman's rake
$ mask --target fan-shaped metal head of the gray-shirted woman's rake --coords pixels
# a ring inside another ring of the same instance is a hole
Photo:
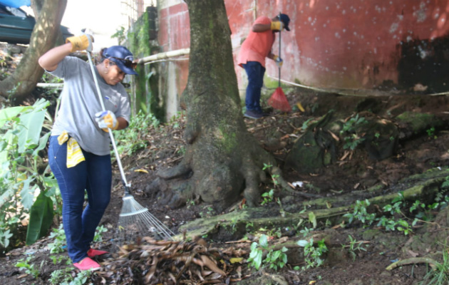
[[[153,236],[155,239],[172,240],[175,234],[148,209],[135,201],[132,195],[123,197],[122,212],[118,219],[118,231],[125,236]]]

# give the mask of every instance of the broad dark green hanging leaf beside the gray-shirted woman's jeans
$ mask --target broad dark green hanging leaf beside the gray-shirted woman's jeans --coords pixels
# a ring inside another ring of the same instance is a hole
[[[45,236],[53,223],[53,202],[45,192],[38,195],[30,210],[30,222],[26,232],[26,244],[33,244]]]

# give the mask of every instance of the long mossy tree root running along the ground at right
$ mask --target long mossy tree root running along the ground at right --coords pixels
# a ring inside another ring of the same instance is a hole
[[[437,177],[428,180],[417,182],[413,180],[413,187],[402,191],[404,199],[408,201],[416,201],[423,199],[430,199],[438,192],[438,185],[445,181],[445,177]],[[436,186],[436,187],[435,187]],[[372,193],[371,193],[372,194]],[[391,193],[389,195],[379,195],[368,199],[371,204],[376,204],[382,208],[386,204],[398,197],[398,194]],[[326,204],[326,200],[330,203]],[[212,236],[217,234],[220,230],[238,229],[234,236],[239,238],[247,232],[247,224],[252,224],[254,228],[269,228],[269,227],[291,227],[302,222],[311,222],[309,217],[312,216],[316,222],[332,222],[338,224],[342,221],[341,216],[352,211],[355,206],[356,197],[351,195],[344,195],[337,198],[321,198],[311,200],[298,204],[299,209],[307,207],[323,207],[322,209],[312,209],[307,212],[287,212],[281,215],[279,212],[272,212],[272,209],[265,209],[263,207],[242,209],[239,211],[229,212],[227,214],[218,215],[215,217],[208,217],[207,219],[196,219],[180,227],[180,232],[185,230],[190,237],[204,234]],[[333,205],[330,209],[327,206]],[[337,205],[340,205],[337,207]],[[374,210],[374,209],[372,209]],[[312,214],[313,213],[313,214]],[[238,232],[241,231],[241,232]]]

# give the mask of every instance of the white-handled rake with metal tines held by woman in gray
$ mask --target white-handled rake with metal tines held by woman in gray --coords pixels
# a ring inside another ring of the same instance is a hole
[[[100,87],[98,86],[97,76],[95,68],[93,67],[91,53],[87,52],[89,64],[93,75],[93,81],[95,81],[98,98],[100,99],[101,108],[105,111],[105,105],[103,103],[103,96],[101,95]],[[130,194],[130,184],[126,181],[125,172],[123,171],[120,155],[118,155],[117,145],[115,145],[114,135],[112,130],[109,130],[110,141],[112,142],[115,157],[117,158],[118,169],[122,177],[123,187],[125,187],[125,195],[123,196],[123,206],[118,219],[119,232],[124,234],[152,234],[156,239],[169,239],[172,240],[172,236],[175,234],[165,224],[160,222],[153,214],[151,214],[147,208],[140,205]]]

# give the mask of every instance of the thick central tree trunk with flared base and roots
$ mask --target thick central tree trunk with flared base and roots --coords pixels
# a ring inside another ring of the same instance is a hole
[[[190,15],[189,78],[182,94],[187,147],[179,165],[158,172],[169,184],[161,202],[179,207],[200,197],[221,211],[243,192],[254,206],[265,178],[262,167],[276,162],[244,124],[224,1],[185,2]]]

